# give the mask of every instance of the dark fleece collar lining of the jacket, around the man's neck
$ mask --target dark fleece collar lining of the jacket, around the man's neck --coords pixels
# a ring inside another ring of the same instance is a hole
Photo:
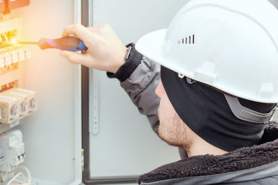
[[[139,183],[165,179],[217,175],[256,168],[278,161],[278,123],[270,122],[258,146],[240,148],[226,155],[202,155],[183,159],[141,175]]]

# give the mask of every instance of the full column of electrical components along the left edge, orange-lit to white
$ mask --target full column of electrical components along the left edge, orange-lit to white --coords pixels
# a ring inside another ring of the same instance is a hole
[[[36,92],[24,89],[24,66],[31,58],[31,49],[19,44],[22,19],[9,14],[28,4],[29,0],[0,0],[0,175],[4,184],[19,181],[15,170],[22,168],[19,165],[25,158],[22,132],[12,129],[38,110]]]

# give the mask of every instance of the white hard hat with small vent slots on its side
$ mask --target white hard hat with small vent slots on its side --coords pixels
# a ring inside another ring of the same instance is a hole
[[[247,100],[278,103],[278,11],[267,0],[192,0],[140,38],[147,58]]]

